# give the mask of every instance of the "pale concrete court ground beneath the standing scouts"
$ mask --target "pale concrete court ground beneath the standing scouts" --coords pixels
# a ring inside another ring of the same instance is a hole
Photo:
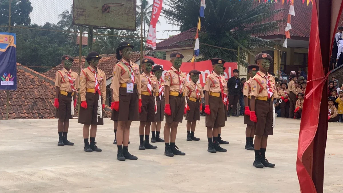
[[[254,152],[244,149],[243,116],[229,117],[222,137],[227,152],[207,152],[205,118],[197,124],[200,141],[186,141],[186,122],[179,124],[176,145],[186,156],[138,150],[139,122],[132,123],[129,150],[137,161],[117,161],[113,122],[98,127],[102,152],[83,151],[82,125],[70,121],[68,139],[57,146],[57,119],[0,121],[0,192],[300,192],[296,152],[300,120],[277,118],[266,156],[275,168],[252,166]],[[164,123],[162,123],[162,127]],[[343,125],[329,123],[324,192],[343,192]],[[162,132],[163,136],[163,132]]]

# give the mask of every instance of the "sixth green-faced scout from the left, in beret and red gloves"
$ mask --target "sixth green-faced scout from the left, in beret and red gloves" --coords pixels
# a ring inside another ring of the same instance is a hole
[[[173,66],[166,72],[165,78],[165,108],[166,124],[164,125],[165,151],[164,155],[172,157],[174,155],[184,156],[184,152],[175,146],[177,126],[182,123],[185,112],[185,80],[186,75],[181,72],[182,55],[179,52],[170,54],[170,62]],[[170,129],[171,128],[171,129]],[[170,137],[170,144],[169,144]]]

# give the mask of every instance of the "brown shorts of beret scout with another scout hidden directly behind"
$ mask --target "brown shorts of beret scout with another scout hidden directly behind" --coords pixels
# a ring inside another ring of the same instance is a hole
[[[224,127],[225,126],[225,106],[222,97],[209,95],[209,105],[211,113],[206,114],[206,127]]]

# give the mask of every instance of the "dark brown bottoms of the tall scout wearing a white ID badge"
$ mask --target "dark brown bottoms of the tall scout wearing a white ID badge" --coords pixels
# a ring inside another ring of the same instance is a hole
[[[143,100],[142,100],[143,105]],[[126,88],[119,88],[119,112],[112,110],[112,121],[139,121],[138,90],[127,93]]]

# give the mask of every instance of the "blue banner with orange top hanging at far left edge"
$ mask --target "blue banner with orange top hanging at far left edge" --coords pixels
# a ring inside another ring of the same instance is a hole
[[[17,90],[15,34],[0,32],[0,90]]]

